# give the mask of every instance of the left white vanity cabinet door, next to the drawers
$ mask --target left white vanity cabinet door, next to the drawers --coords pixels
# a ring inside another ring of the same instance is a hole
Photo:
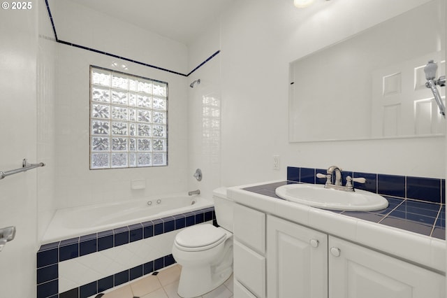
[[[327,298],[328,235],[268,215],[267,237],[267,296]]]

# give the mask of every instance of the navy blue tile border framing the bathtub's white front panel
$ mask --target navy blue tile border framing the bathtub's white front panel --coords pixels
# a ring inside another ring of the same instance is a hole
[[[82,257],[84,255],[96,253],[101,250],[131,243],[133,241],[140,241],[152,236],[172,232],[176,229],[182,229],[184,227],[189,227],[191,225],[197,225],[203,222],[210,221],[213,223],[214,226],[217,226],[214,206],[202,208],[196,211],[189,211],[187,213],[179,213],[165,218],[149,220],[147,222],[140,222],[129,226],[117,227],[115,229],[97,232],[94,234],[82,235],[72,239],[44,244],[36,253],[37,298],[85,298],[98,293],[96,292],[88,296],[81,295],[85,292],[92,292],[93,283],[96,283],[96,285],[98,285],[99,281],[94,281],[87,285],[82,285],[78,288],[71,289],[67,292],[59,293],[59,262],[71,260],[76,257]],[[150,266],[149,263],[151,262],[154,263],[153,270],[145,270],[146,267]],[[140,264],[137,267],[124,270],[112,275],[114,277],[113,286],[121,284],[115,283],[115,276],[117,275],[119,279],[122,279],[127,274],[128,281],[132,281],[133,279],[140,277],[137,274],[135,278],[131,278],[131,271],[138,270],[138,267],[142,267],[142,276],[144,276],[146,274],[152,273],[153,271],[170,266],[174,263],[175,260],[173,256],[166,255],[157,260],[152,260],[145,264]],[[110,277],[111,276],[108,276],[107,278]],[[100,281],[102,281],[103,279],[104,278],[102,278]],[[70,294],[73,292],[77,292],[78,295],[71,296],[74,295]],[[60,296],[62,294],[67,296]]]

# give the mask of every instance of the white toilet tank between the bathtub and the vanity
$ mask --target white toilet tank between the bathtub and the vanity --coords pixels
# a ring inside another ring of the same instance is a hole
[[[214,211],[219,226],[233,233],[234,201],[226,196],[226,187],[219,187],[212,192]]]

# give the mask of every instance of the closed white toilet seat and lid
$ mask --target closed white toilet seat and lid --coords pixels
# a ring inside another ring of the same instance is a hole
[[[226,233],[210,224],[195,225],[175,236],[175,246],[183,251],[208,250],[225,241]]]

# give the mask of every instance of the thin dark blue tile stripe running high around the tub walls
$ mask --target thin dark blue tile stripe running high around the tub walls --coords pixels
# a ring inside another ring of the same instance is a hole
[[[45,0],[45,5],[47,6],[48,16],[50,17],[51,26],[52,26],[53,33],[54,33],[54,39],[55,39],[55,41],[56,41],[57,43],[61,43],[61,44],[64,44],[64,45],[70,45],[70,46],[72,46],[72,47],[80,48],[80,49],[82,49],[82,50],[89,50],[90,52],[96,52],[96,53],[98,53],[98,54],[102,54],[102,55],[106,55],[106,56],[114,57],[114,58],[117,58],[117,59],[122,59],[122,60],[127,61],[127,62],[133,62],[133,63],[135,63],[135,64],[140,64],[140,65],[142,65],[142,66],[147,66],[147,67],[150,67],[150,68],[152,68],[152,69],[158,69],[158,70],[160,70],[160,71],[167,71],[168,73],[174,73],[174,74],[176,74],[176,75],[178,75],[178,76],[185,76],[185,77],[190,76],[194,71],[200,69],[200,67],[202,67],[203,65],[205,65],[205,63],[207,63],[208,61],[210,61],[212,58],[214,58],[216,55],[218,55],[218,54],[221,52],[220,50],[217,50],[217,52],[214,52],[214,54],[212,54],[212,55],[211,55],[210,57],[208,57],[204,62],[202,62],[202,63],[200,63],[198,66],[196,66],[196,68],[193,69],[192,71],[190,71],[188,74],[179,73],[178,71],[171,71],[170,69],[164,69],[163,67],[159,67],[159,66],[155,66],[155,65],[152,65],[152,64],[147,64],[147,63],[144,63],[144,62],[140,62],[140,61],[137,61],[137,60],[134,60],[134,59],[129,59],[129,58],[126,58],[126,57],[118,56],[118,55],[112,54],[112,53],[110,53],[110,52],[105,52],[105,51],[101,51],[101,50],[96,50],[96,49],[94,49],[94,48],[89,48],[89,47],[86,47],[86,46],[84,46],[84,45],[78,45],[78,44],[76,44],[76,43],[71,43],[71,42],[68,42],[68,41],[61,41],[61,40],[57,37],[56,27],[54,26],[54,20],[53,20],[52,14],[51,14],[50,5],[48,4],[48,0]]]

